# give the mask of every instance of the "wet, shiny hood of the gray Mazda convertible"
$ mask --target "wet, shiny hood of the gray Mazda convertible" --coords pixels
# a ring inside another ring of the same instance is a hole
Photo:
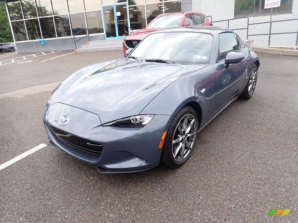
[[[97,114],[104,124],[139,114],[169,84],[205,66],[111,60],[66,78],[53,91],[50,106],[74,106]]]

